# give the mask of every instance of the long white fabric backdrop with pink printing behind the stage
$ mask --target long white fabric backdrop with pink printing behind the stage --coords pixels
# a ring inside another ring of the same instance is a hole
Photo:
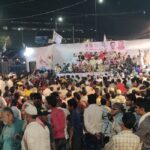
[[[30,47],[26,50],[30,53],[26,56],[27,70],[29,71],[29,62],[36,62],[36,69],[54,68],[55,64],[69,63],[72,61],[73,54],[79,52],[100,52],[118,51],[127,52],[130,55],[138,55],[139,49],[141,51],[150,49],[150,39],[134,40],[134,41],[105,41],[105,42],[89,42],[89,43],[75,43],[75,44],[60,44],[50,45],[46,47]]]

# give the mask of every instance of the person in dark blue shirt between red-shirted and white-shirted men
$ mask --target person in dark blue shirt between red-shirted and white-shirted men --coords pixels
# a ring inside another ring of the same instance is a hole
[[[70,111],[70,146],[72,150],[82,150],[83,125],[80,112],[77,110],[78,103],[75,99],[68,101],[68,109]]]

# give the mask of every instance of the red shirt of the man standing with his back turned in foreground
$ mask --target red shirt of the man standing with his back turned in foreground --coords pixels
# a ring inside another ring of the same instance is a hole
[[[59,108],[53,108],[51,112],[51,125],[55,139],[65,138],[65,113]]]

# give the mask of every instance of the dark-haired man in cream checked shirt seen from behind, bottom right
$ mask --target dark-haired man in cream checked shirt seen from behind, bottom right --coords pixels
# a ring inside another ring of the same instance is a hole
[[[105,146],[105,150],[140,150],[140,138],[133,134],[136,118],[132,113],[125,113],[122,117],[122,131],[114,135]]]

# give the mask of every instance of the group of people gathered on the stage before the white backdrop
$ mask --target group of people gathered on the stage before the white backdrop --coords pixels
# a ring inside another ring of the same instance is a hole
[[[101,51],[101,52],[79,52],[73,54],[71,62],[64,63],[62,66],[56,64],[57,73],[85,73],[85,72],[107,72],[125,68],[131,70],[132,67],[143,67],[139,55],[130,56],[125,52]]]

